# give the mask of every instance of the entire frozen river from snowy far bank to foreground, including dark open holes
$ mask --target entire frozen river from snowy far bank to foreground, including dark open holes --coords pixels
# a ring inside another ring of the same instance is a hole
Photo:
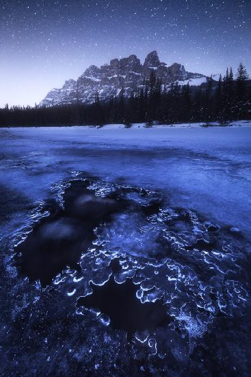
[[[0,169],[6,375],[248,376],[250,123],[1,129]]]

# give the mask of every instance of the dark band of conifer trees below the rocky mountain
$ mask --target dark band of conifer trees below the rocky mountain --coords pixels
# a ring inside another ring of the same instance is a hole
[[[122,88],[118,97],[101,101],[96,94],[93,104],[62,106],[12,106],[0,109],[0,126],[103,125],[107,123],[159,124],[218,121],[222,125],[239,119],[251,120],[251,84],[245,66],[240,64],[236,77],[226,70],[216,82],[209,77],[201,86],[169,86],[152,72],[141,88],[129,98]]]

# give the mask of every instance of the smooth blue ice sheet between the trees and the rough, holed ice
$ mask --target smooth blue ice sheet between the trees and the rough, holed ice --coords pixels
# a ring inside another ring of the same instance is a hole
[[[251,234],[251,127],[19,128],[0,137],[0,184],[26,199],[43,200],[70,171],[86,171],[160,189],[172,206]]]

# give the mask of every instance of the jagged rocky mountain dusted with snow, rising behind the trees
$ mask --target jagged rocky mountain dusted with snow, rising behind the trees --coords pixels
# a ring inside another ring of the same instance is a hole
[[[98,93],[99,99],[107,100],[120,94],[124,88],[124,95],[129,97],[133,90],[144,86],[149,80],[151,72],[155,72],[162,84],[179,82],[180,85],[200,85],[207,81],[207,77],[200,73],[185,71],[182,64],[174,63],[167,66],[159,61],[157,51],[148,53],[144,64],[135,55],[120,60],[113,59],[110,64],[100,68],[89,66],[77,81],[67,80],[60,89],[51,90],[41,101],[40,106],[54,106],[72,104],[77,101],[91,104]]]

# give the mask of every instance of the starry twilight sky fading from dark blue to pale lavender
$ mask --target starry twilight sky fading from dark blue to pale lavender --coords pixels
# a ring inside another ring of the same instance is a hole
[[[33,106],[90,65],[135,54],[191,72],[251,74],[251,0],[0,2],[0,106]]]

